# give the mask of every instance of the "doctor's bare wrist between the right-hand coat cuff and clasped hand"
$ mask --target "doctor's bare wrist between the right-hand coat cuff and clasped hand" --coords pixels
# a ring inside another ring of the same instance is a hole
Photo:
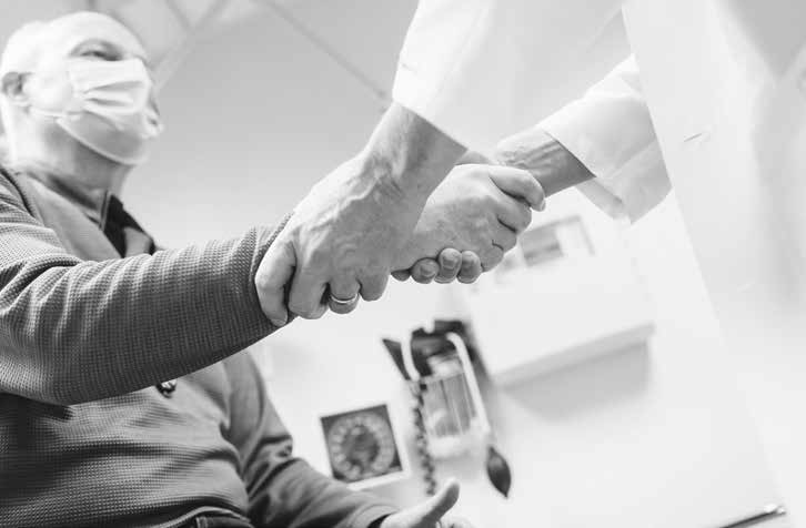
[[[503,165],[531,172],[546,196],[595,177],[562,143],[538,128],[504,139],[495,158]]]

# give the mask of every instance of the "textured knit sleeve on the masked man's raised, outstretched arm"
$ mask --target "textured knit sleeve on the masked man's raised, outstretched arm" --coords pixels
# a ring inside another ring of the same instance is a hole
[[[0,179],[0,393],[73,404],[180,377],[273,331],[253,277],[272,233],[91,262]]]

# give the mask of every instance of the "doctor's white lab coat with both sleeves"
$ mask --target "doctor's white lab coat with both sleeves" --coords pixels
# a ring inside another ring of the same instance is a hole
[[[639,78],[627,61],[541,125],[597,175],[585,193],[609,211],[641,216],[666,193],[668,171],[733,366],[800,526],[806,3],[421,0],[394,98],[490,152],[545,118],[540,98],[562,89],[622,8]]]

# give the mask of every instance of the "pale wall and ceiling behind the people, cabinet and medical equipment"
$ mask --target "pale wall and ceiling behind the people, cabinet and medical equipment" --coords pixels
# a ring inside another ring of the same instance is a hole
[[[296,10],[389,87],[413,8],[329,0]],[[600,53],[568,98],[625,53],[618,24]],[[275,222],[355,152],[380,114],[366,90],[269,14],[202,43],[162,108],[165,136],[127,192],[142,223],[173,246]],[[491,490],[480,459],[441,466],[441,476],[461,477],[459,509],[478,526],[698,527],[777,498],[674,202],[629,236],[657,312],[649,351],[491,390],[513,498]],[[393,284],[350,317],[295,322],[263,343],[270,393],[298,453],[324,467],[323,413],[377,400],[406,413],[380,337],[455,313],[450,292]],[[380,491],[410,502],[421,489],[411,480]]]

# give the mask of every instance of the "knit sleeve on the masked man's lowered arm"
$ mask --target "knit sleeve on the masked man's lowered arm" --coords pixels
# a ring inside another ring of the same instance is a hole
[[[264,528],[367,528],[396,508],[352,491],[292,455],[292,440],[248,352],[224,362],[232,394],[229,440],[241,455],[249,517]]]

